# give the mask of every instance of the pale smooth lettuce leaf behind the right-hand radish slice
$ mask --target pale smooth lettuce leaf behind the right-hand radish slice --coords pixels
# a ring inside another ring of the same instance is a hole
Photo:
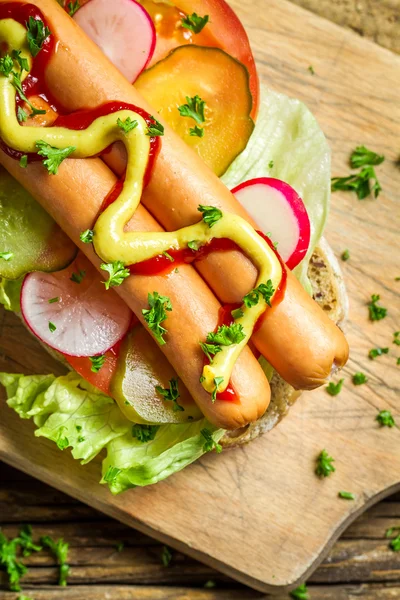
[[[255,177],[276,177],[289,183],[303,199],[311,222],[311,240],[294,273],[310,294],[308,263],[329,212],[330,158],[325,136],[308,108],[262,86],[260,111],[249,143],[222,176],[230,189]],[[273,166],[269,166],[271,161]]]

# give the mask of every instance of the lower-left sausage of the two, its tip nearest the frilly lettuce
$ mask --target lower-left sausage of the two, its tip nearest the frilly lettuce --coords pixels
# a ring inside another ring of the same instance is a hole
[[[68,159],[56,176],[49,175],[39,162],[21,169],[18,161],[0,151],[0,163],[32,194],[64,229],[74,243],[99,268],[100,260],[91,245],[83,244],[79,234],[93,225],[104,198],[117,179],[97,158]],[[139,206],[131,221],[139,231],[162,231],[159,224]],[[104,272],[101,271],[104,275]],[[167,343],[161,349],[175,368],[207,419],[218,427],[236,429],[257,420],[270,400],[268,381],[251,350],[246,347],[232,372],[231,383],[240,402],[216,400],[200,384],[204,355],[199,341],[218,325],[220,304],[196,271],[179,267],[168,276],[132,275],[115,290],[142,323],[142,308],[148,306],[148,292],[157,291],[171,299],[173,310],[164,322]]]

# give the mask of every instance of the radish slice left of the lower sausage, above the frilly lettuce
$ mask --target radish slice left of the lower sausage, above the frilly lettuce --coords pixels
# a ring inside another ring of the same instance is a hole
[[[83,255],[63,271],[27,275],[21,312],[42,342],[70,356],[104,354],[126,334],[132,314]]]

